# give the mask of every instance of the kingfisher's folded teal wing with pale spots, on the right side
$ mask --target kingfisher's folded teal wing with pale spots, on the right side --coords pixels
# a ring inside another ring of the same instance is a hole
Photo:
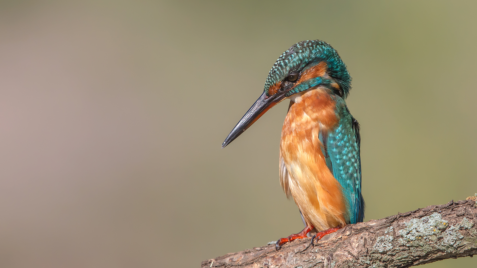
[[[361,159],[359,124],[349,113],[344,111],[339,124],[334,130],[320,133],[323,144],[321,150],[326,157],[326,165],[343,187],[347,201],[348,224],[363,222],[364,200],[361,195]]]

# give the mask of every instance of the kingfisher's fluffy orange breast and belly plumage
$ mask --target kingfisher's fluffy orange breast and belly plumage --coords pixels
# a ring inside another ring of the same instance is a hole
[[[285,118],[280,140],[280,184],[293,196],[307,223],[318,231],[345,226],[342,187],[321,152],[321,128],[338,123],[335,102],[321,89],[295,100]]]

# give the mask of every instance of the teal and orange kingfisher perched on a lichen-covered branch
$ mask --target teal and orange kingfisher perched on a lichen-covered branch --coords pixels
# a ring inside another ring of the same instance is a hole
[[[230,144],[271,107],[290,100],[280,137],[280,185],[298,206],[305,228],[280,238],[318,242],[326,234],[363,222],[360,125],[345,99],[351,76],[338,52],[320,40],[301,41],[273,64],[264,91],[222,144]]]

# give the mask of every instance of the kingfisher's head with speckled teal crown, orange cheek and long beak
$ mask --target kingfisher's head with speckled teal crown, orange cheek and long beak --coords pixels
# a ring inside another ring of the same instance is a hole
[[[301,41],[280,55],[273,64],[259,99],[228,134],[222,148],[242,134],[260,116],[286,98],[321,87],[330,94],[346,98],[351,77],[338,52],[320,40]]]

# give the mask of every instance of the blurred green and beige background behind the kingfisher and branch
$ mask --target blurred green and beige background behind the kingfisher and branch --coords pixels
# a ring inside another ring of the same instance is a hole
[[[353,77],[366,220],[474,195],[476,9],[0,1],[0,267],[199,267],[300,231],[278,178],[288,102],[220,145],[303,40]]]

